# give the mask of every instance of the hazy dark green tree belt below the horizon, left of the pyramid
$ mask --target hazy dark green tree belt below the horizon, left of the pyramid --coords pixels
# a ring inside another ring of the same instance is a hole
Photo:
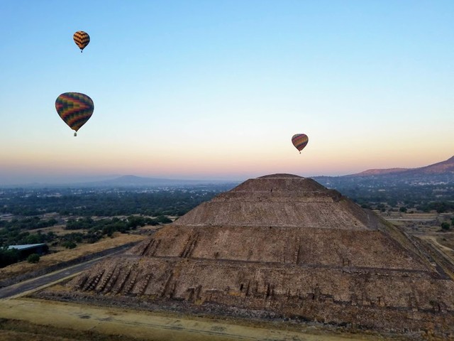
[[[60,215],[83,217],[116,215],[181,216],[210,200],[221,189],[136,191],[94,190],[4,190],[0,195],[0,214],[21,216],[43,215],[57,212]],[[61,194],[63,192],[64,194]],[[58,194],[58,195],[56,195]]]

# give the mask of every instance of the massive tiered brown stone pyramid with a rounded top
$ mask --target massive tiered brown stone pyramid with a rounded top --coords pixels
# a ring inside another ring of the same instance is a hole
[[[199,205],[67,286],[123,304],[448,335],[454,281],[441,265],[336,190],[275,174]]]

